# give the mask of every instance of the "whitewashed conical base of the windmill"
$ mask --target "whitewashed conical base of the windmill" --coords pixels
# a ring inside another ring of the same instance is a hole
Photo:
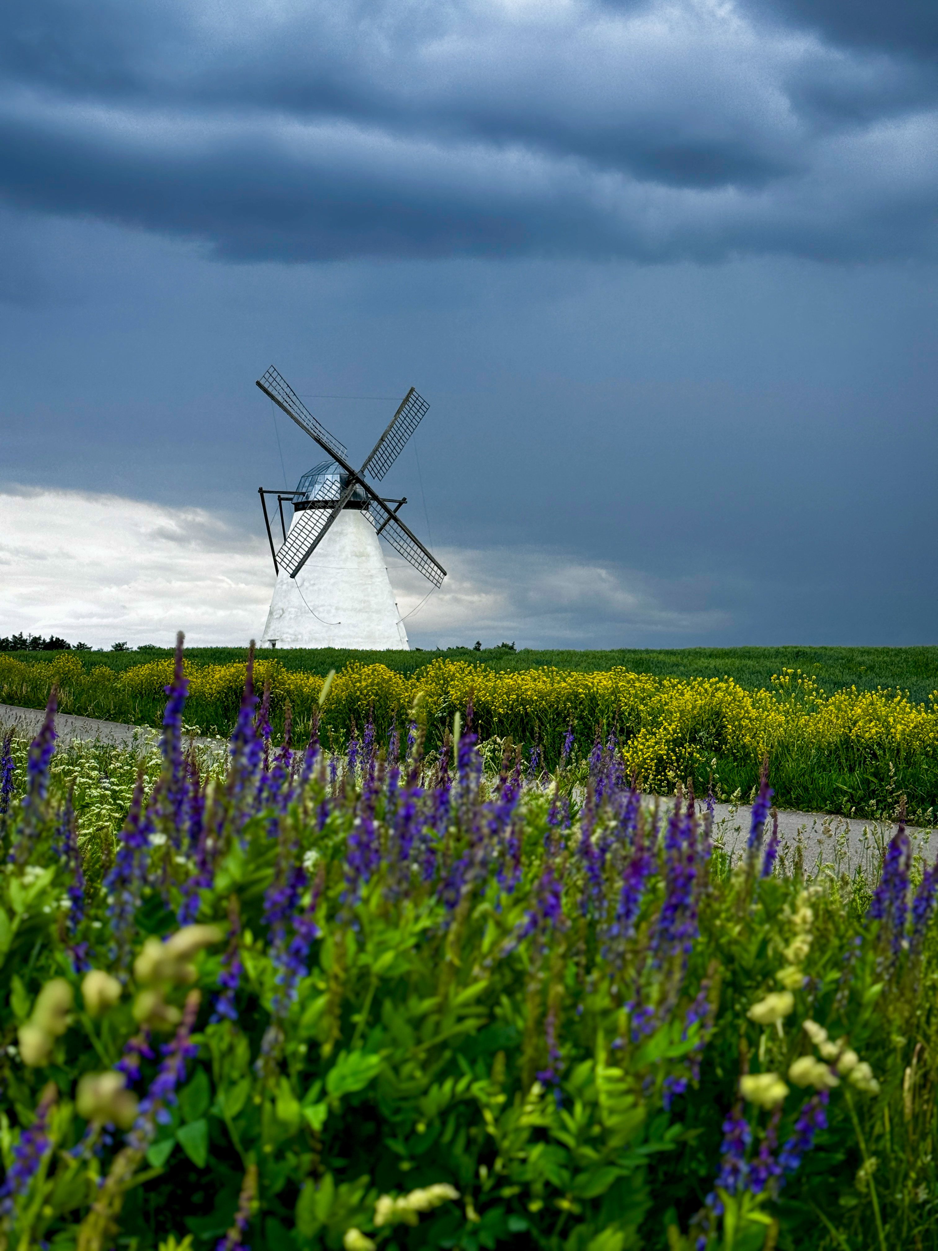
[[[339,514],[295,578],[278,574],[261,647],[274,639],[278,647],[408,651],[381,545],[358,509]]]

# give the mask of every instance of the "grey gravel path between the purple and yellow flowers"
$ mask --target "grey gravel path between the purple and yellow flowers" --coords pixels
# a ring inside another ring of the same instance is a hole
[[[18,708],[13,704],[0,704],[0,728],[11,724],[24,736],[33,736],[43,724],[44,713],[39,708]],[[71,739],[98,739],[130,747],[134,742],[141,746],[155,743],[160,732],[148,726],[125,726],[116,721],[95,721],[91,717],[74,717],[59,713],[55,728],[61,742]],[[135,738],[136,736],[136,738]],[[196,743],[218,744],[219,739],[196,739]],[[703,804],[698,807],[703,808]],[[738,857],[745,849],[749,833],[752,808],[749,804],[732,806],[718,803],[714,821],[714,834],[725,849]],[[894,826],[890,822],[860,821],[857,818],[833,817],[824,812],[779,812],[778,829],[782,843],[782,863],[790,866],[799,848],[805,869],[823,872],[825,866],[835,873],[853,873],[860,868],[868,874],[879,872],[883,847],[889,842]],[[913,853],[928,858],[929,843],[938,848],[938,838],[930,829],[909,829]],[[830,871],[829,869],[829,871]]]

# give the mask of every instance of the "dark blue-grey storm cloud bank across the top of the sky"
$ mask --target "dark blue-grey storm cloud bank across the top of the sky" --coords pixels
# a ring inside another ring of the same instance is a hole
[[[38,0],[0,186],[243,260],[929,254],[933,69],[784,3]]]

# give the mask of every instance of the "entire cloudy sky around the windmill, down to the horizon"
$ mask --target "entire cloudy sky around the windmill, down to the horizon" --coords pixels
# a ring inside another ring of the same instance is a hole
[[[319,449],[411,646],[934,643],[938,9],[0,11],[0,636],[245,643]]]

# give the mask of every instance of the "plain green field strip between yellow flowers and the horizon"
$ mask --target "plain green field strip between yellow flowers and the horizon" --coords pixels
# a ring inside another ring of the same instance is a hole
[[[49,663],[55,652],[11,652],[18,661]],[[75,652],[86,669],[106,664],[124,671],[145,661],[173,656],[171,648],[145,652]],[[188,647],[186,659],[194,664],[231,664],[246,661],[248,649],[239,647]],[[266,654],[266,653],[265,653]],[[748,691],[768,688],[774,673],[802,669],[827,692],[843,687],[875,691],[895,687],[907,691],[915,703],[923,703],[938,689],[938,647],[688,647],[653,651],[619,648],[608,652],[537,651],[503,648],[474,652],[450,647],[411,652],[354,652],[344,648],[278,648],[276,659],[286,669],[326,674],[341,671],[350,661],[359,664],[386,664],[398,673],[413,673],[435,657],[472,661],[503,672],[554,666],[580,673],[622,666],[635,673],[675,678],[734,678]]]

